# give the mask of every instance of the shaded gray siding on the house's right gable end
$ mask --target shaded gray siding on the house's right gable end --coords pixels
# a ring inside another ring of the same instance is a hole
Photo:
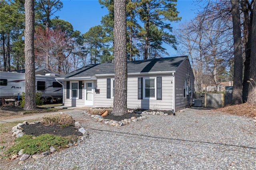
[[[184,60],[180,67],[175,73],[175,111],[185,108],[189,105],[189,100],[184,97],[184,81],[190,75],[190,82],[192,82],[192,94],[194,93],[194,75],[192,69],[190,68],[189,61]]]

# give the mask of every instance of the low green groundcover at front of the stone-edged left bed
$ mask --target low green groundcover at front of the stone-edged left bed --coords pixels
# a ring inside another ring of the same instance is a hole
[[[10,147],[6,152],[6,156],[18,154],[21,149],[24,149],[26,154],[37,154],[49,150],[50,146],[60,150],[66,148],[69,142],[77,140],[76,136],[62,137],[53,134],[42,134],[40,136],[32,136],[24,134],[23,136],[16,138],[14,146]]]

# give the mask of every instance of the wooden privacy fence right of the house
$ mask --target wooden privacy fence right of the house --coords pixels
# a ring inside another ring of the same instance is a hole
[[[203,107],[224,107],[232,102],[232,90],[226,93],[195,93],[194,99],[201,99]]]

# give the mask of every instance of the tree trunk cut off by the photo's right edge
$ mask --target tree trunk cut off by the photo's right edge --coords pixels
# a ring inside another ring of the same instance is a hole
[[[256,8],[253,10],[253,18],[252,18],[252,50],[250,57],[250,79],[252,85],[249,86],[249,95],[247,102],[250,104],[256,103]]]

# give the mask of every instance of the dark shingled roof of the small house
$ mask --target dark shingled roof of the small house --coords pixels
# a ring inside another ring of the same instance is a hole
[[[180,57],[166,57],[139,61],[128,61],[127,72],[128,73],[146,73],[154,71],[175,71],[177,67],[187,59],[188,56]],[[90,64],[82,67],[66,75],[62,75],[60,78],[68,77],[90,77],[98,74],[114,74],[114,63],[102,63],[102,64]]]

